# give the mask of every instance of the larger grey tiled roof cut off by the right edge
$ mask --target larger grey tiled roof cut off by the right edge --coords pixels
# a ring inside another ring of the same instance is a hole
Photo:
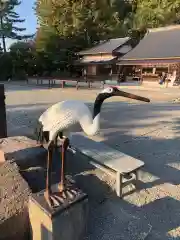
[[[180,58],[180,25],[150,29],[121,61]]]

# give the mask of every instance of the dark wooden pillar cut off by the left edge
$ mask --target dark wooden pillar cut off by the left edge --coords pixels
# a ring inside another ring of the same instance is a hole
[[[4,84],[0,84],[0,138],[7,137]]]

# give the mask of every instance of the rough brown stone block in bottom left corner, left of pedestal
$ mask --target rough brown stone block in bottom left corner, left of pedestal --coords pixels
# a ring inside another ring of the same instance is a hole
[[[15,162],[0,166],[0,240],[27,239],[29,219],[27,203],[31,195],[28,184]]]

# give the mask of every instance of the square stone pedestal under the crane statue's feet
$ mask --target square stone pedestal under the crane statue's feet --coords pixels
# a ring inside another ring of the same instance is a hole
[[[79,190],[71,202],[50,208],[44,192],[29,199],[29,218],[33,240],[81,240],[88,216],[87,195]]]

